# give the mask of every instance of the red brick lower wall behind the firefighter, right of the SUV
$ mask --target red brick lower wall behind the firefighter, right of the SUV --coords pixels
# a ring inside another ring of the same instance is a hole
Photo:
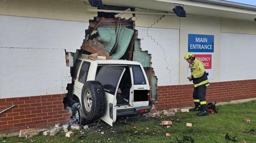
[[[159,86],[156,108],[158,110],[193,106],[193,85]],[[210,83],[206,101],[239,100],[256,97],[256,80],[240,80]]]

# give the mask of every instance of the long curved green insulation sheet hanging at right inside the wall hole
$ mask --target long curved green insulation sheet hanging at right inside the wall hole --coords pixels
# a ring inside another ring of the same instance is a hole
[[[115,47],[115,50],[110,57],[113,60],[120,59],[123,54],[125,54],[125,51],[127,47],[129,46],[129,43],[131,41],[131,38],[133,37],[133,29],[128,29],[126,27],[122,27],[121,29],[118,29],[117,31],[117,44]]]

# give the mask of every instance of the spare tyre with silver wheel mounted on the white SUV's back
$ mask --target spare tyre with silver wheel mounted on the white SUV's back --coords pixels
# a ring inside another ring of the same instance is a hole
[[[99,81],[86,81],[81,96],[85,118],[88,120],[101,118],[106,107],[105,91],[102,84]]]

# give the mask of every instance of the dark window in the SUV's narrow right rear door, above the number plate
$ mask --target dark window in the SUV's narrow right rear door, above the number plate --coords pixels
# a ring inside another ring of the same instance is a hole
[[[140,65],[132,65],[133,81],[135,85],[146,84],[144,74],[140,68]]]

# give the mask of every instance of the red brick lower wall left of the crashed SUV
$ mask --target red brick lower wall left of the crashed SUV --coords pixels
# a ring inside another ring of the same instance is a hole
[[[0,133],[69,122],[71,113],[64,109],[62,103],[65,96],[55,94],[0,99],[0,111],[16,105],[0,114]]]

